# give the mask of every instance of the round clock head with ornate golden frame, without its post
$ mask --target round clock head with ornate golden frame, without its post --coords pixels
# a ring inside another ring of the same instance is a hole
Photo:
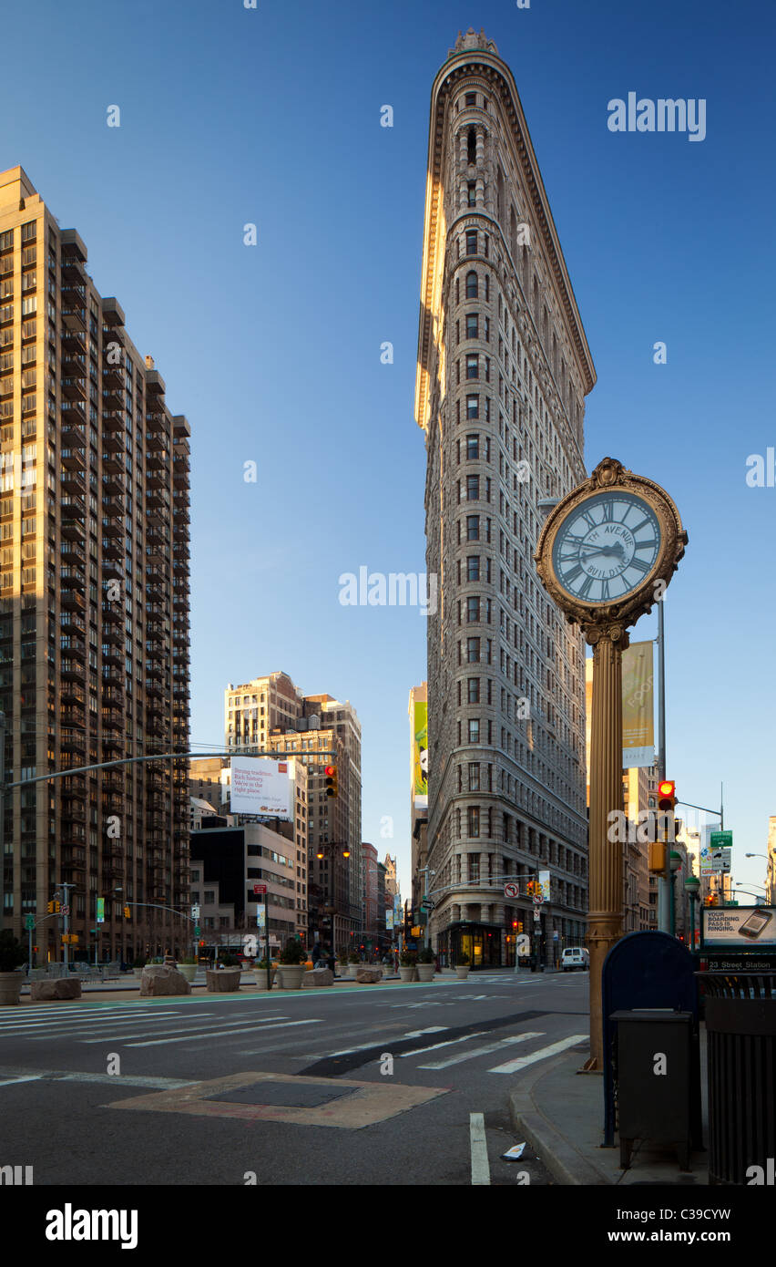
[[[660,484],[605,457],[553,508],[534,557],[570,621],[633,623],[662,598],[686,541]]]

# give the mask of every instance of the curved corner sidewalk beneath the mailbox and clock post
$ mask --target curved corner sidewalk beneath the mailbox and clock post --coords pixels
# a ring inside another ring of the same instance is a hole
[[[581,1045],[581,1044],[580,1044]],[[618,1185],[667,1183],[705,1186],[709,1182],[708,1153],[694,1152],[690,1172],[680,1171],[673,1148],[638,1142],[630,1167],[619,1166],[619,1138],[614,1148],[603,1148],[604,1078],[580,1073],[587,1052],[566,1052],[524,1078],[510,1092],[509,1111],[519,1139],[525,1139],[557,1183]],[[708,1147],[706,1041],[701,1025],[700,1078],[703,1139]]]

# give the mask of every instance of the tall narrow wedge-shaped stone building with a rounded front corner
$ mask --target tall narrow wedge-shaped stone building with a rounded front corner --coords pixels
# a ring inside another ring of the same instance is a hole
[[[538,580],[542,502],[586,475],[595,383],[514,79],[460,35],[432,89],[415,418],[425,432],[428,867],[443,957],[580,944],[585,664]],[[510,884],[511,897],[505,896]]]

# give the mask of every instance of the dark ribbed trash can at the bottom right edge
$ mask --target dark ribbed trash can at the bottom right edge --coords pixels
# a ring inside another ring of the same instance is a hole
[[[706,1001],[709,1183],[776,1157],[776,972],[699,972]],[[772,1166],[771,1161],[771,1166]]]

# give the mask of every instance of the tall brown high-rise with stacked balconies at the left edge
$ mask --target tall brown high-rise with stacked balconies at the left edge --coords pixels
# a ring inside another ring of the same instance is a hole
[[[189,424],[22,167],[0,174],[0,707],[8,782],[189,745]],[[61,959],[175,949],[185,763],[29,783],[5,799],[3,916]],[[132,917],[123,917],[123,906]],[[187,938],[187,933],[185,933]]]

